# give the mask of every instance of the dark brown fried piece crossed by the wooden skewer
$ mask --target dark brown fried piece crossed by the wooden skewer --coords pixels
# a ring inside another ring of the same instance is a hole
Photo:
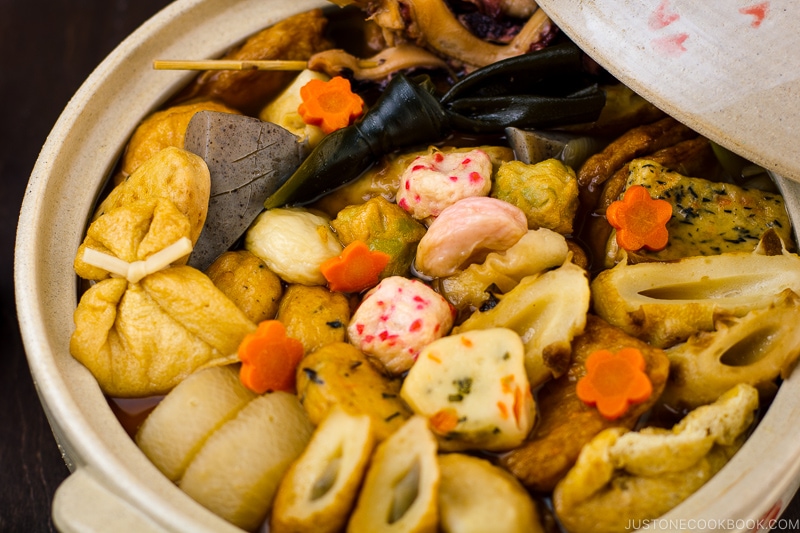
[[[321,9],[300,13],[255,34],[223,59],[306,61],[331,47],[323,35],[326,25],[327,19]],[[296,75],[295,72],[258,70],[206,71],[181,92],[177,101],[218,100],[256,116]]]

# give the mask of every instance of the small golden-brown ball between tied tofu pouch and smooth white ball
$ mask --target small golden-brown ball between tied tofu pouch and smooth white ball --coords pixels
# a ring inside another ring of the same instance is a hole
[[[225,252],[206,274],[253,322],[269,320],[278,312],[283,294],[281,280],[247,250]]]

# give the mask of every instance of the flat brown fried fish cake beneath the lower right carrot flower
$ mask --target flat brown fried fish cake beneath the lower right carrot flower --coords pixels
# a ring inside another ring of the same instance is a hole
[[[586,375],[589,355],[600,349],[617,352],[625,347],[638,348],[642,352],[653,393],[649,400],[632,405],[622,417],[608,420],[578,398],[575,385]],[[636,424],[664,390],[668,372],[669,359],[662,350],[648,346],[594,315],[588,315],[586,329],[573,341],[569,370],[546,383],[539,391],[539,423],[522,446],[501,456],[500,463],[527,488],[542,492],[553,490],[575,463],[584,444],[595,435],[611,427],[630,429]]]

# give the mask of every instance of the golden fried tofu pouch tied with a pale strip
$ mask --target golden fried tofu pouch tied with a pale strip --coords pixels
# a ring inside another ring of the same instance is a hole
[[[89,227],[87,240],[112,260],[141,264],[191,231],[169,200],[145,198],[105,212]],[[70,353],[110,396],[164,394],[198,368],[229,361],[255,330],[191,267],[167,266],[137,282],[104,277],[75,310]]]

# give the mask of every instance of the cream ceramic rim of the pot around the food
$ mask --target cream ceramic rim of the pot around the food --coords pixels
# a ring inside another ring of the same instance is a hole
[[[25,192],[14,258],[17,313],[31,374],[56,440],[70,470],[91,472],[164,530],[239,531],[161,475],[125,433],[91,374],[70,355],[78,301],[72,260],[87,213],[121,147],[139,121],[192,76],[152,71],[155,54],[216,57],[270,23],[323,5],[328,4],[177,0],[169,5],[125,39],[80,87],[48,136]],[[662,519],[756,520],[776,502],[781,510],[786,507],[800,473],[795,444],[800,424],[786,424],[800,408],[796,374],[784,382],[753,436],[728,465]]]

